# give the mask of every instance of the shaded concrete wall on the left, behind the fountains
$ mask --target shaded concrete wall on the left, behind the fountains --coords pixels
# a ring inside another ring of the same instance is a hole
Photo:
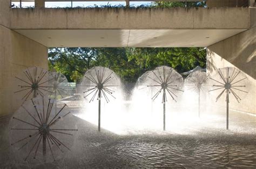
[[[14,112],[21,99],[14,94],[15,76],[31,66],[48,69],[45,46],[0,25],[0,117]]]

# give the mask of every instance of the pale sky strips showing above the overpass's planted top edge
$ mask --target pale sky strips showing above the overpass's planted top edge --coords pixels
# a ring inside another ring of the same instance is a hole
[[[88,6],[94,6],[95,4],[100,5],[125,5],[124,1],[120,2],[73,2],[73,7],[82,6],[82,7],[88,7]],[[16,6],[19,6],[19,2],[13,2],[12,4],[15,4]],[[143,1],[143,2],[130,2],[130,5],[132,6],[139,6],[139,5],[150,5],[151,1]],[[34,2],[22,2],[22,7],[25,8],[26,6],[34,6]],[[71,7],[71,2],[45,2],[45,8],[66,8]]]

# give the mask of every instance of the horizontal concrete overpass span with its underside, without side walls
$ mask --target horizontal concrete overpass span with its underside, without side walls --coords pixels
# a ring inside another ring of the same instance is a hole
[[[250,29],[250,8],[12,9],[10,28],[45,46],[209,46]]]

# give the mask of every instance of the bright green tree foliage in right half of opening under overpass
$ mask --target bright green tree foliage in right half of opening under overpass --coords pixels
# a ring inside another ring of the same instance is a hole
[[[206,50],[201,48],[132,48],[127,55],[144,72],[160,65],[171,66],[179,73],[206,66]]]

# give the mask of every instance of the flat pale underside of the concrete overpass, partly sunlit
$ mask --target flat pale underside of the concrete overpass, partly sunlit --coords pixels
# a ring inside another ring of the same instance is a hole
[[[245,29],[15,30],[47,47],[205,47]]]

